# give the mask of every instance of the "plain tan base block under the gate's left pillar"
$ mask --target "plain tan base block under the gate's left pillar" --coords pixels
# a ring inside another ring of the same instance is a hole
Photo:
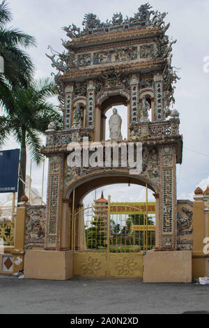
[[[67,280],[72,278],[72,251],[26,251],[24,278]]]

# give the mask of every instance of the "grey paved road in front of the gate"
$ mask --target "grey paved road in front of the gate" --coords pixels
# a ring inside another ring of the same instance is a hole
[[[137,279],[20,279],[0,275],[0,313],[140,314],[209,311],[209,285]]]

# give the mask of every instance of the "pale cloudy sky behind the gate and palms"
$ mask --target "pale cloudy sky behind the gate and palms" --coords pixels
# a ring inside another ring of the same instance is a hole
[[[38,47],[29,51],[36,65],[36,76],[47,77],[54,68],[45,56],[47,46],[63,51],[61,29],[69,24],[82,27],[85,13],[95,13],[101,21],[111,19],[121,11],[125,16],[133,16],[137,8],[147,1],[130,0],[10,0],[13,12],[12,26],[36,37]],[[177,39],[173,45],[173,66],[180,67],[181,80],[176,85],[176,109],[180,112],[180,133],[183,134],[183,164],[178,165],[178,198],[191,198],[197,185],[206,188],[209,184],[208,170],[208,127],[209,127],[209,73],[203,71],[203,58],[209,56],[209,1],[208,0],[150,0],[154,10],[168,12],[167,22],[171,22],[169,36]],[[128,6],[127,6],[128,3]],[[45,138],[43,138],[43,144]],[[15,148],[10,140],[5,149]],[[192,149],[188,150],[188,149]],[[196,151],[196,152],[195,152]],[[205,155],[202,155],[202,154]],[[27,171],[29,174],[30,158]],[[41,191],[40,168],[33,165],[33,186]],[[45,189],[47,170],[45,170]],[[144,201],[144,188],[139,186],[105,187],[105,195],[111,194],[115,201]],[[98,191],[100,193],[100,191]],[[137,199],[136,199],[137,195]],[[0,194],[0,201],[6,194]],[[91,201],[94,194],[87,197]],[[124,198],[125,197],[125,198]],[[150,193],[151,199],[151,193]]]

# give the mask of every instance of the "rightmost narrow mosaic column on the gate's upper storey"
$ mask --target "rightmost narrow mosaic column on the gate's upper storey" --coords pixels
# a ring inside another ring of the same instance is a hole
[[[154,75],[155,91],[155,121],[164,121],[164,110],[162,101],[163,77],[160,74]]]

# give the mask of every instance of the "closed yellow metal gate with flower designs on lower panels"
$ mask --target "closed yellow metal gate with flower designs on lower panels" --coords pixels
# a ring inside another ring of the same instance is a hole
[[[146,204],[146,203],[145,203]],[[72,215],[75,276],[142,278],[143,255],[155,246],[155,222],[148,209],[108,202]]]

